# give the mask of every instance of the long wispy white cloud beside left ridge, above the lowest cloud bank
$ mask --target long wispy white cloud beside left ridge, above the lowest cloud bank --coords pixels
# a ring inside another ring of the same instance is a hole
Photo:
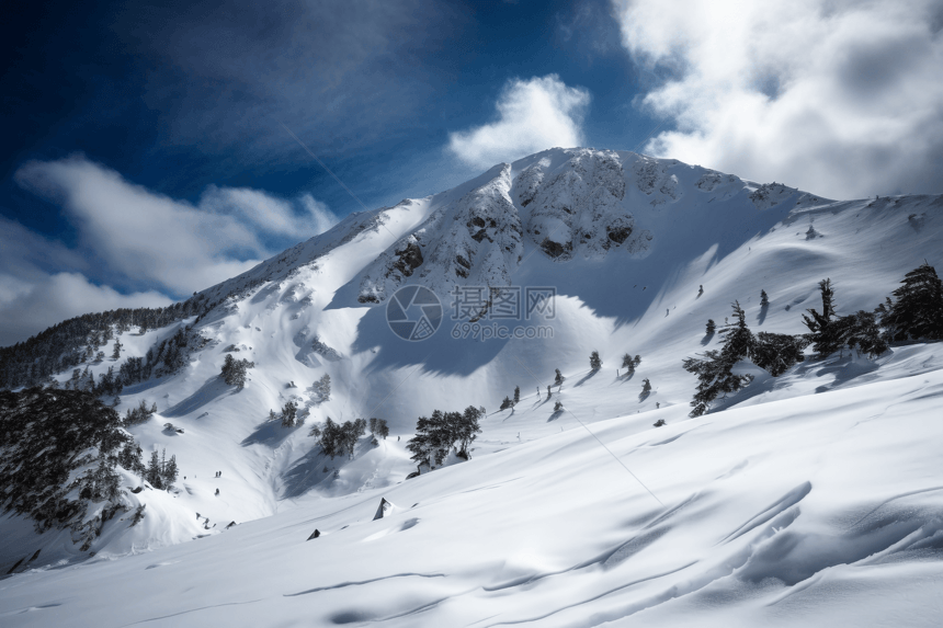
[[[254,190],[209,187],[197,206],[155,194],[83,158],[33,161],[16,182],[63,205],[81,244],[112,274],[174,294],[237,275],[276,252],[269,237],[305,240],[337,219],[321,204]]]

